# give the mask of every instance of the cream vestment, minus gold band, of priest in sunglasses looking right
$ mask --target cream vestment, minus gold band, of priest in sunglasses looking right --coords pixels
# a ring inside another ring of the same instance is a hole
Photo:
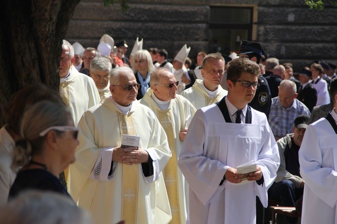
[[[140,100],[140,103],[148,106],[158,117],[158,111],[160,111],[160,108],[153,100],[151,94],[153,94],[153,92],[151,89],[149,89],[144,97]],[[174,138],[177,152],[176,155],[177,157],[179,157],[183,147],[183,142],[179,138],[179,131],[184,130],[186,118],[191,115],[190,119],[192,119],[196,112],[196,109],[185,97],[181,95],[176,95],[175,99],[170,100],[170,104],[168,104],[167,110],[170,110],[173,116],[172,126],[174,130]],[[181,223],[186,223],[188,211],[188,184],[180,169],[177,170],[177,180]]]

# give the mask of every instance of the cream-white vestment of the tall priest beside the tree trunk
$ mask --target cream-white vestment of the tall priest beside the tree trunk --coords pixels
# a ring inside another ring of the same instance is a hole
[[[69,97],[64,103],[69,107],[74,124],[77,126],[84,111],[97,105],[101,98],[91,77],[79,73],[73,65],[69,72],[66,82],[60,83],[60,95],[63,101],[65,97]]]

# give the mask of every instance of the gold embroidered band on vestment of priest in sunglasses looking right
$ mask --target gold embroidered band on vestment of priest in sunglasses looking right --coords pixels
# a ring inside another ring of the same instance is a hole
[[[173,130],[172,115],[170,110],[159,110],[158,120],[167,135],[168,146],[170,147],[172,157],[168,160],[164,168],[164,180],[171,205],[172,220],[170,223],[180,222],[179,192],[177,178],[177,152]]]

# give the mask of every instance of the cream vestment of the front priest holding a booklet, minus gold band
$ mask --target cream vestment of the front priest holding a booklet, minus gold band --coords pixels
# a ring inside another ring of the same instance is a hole
[[[78,206],[90,211],[94,223],[117,223],[122,219],[122,164],[114,162],[111,167],[112,150],[121,145],[122,136],[117,111],[119,108],[109,97],[87,110],[78,123],[80,145],[76,162],[70,165],[68,189]],[[171,209],[161,173],[171,157],[166,134],[147,106],[133,101],[130,114],[135,135],[140,136],[139,148],[153,160],[153,175],[149,177],[143,175],[141,164],[134,165],[139,166],[136,223],[167,223]]]

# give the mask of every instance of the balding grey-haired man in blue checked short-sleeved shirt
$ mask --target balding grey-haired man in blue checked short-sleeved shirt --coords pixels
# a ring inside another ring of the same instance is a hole
[[[276,140],[292,133],[294,120],[299,115],[309,115],[306,105],[296,99],[296,84],[290,80],[283,80],[279,86],[279,96],[272,98],[269,114],[269,125]]]

